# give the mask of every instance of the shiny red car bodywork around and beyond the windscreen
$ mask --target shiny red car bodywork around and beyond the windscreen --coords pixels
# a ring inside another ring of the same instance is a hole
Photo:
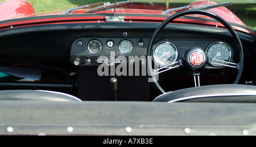
[[[189,9],[195,9],[197,7],[201,7],[200,3],[203,4],[210,4],[210,5],[214,5],[216,4],[215,2],[210,2],[210,1],[196,1],[196,2],[192,2],[191,4],[189,4],[190,6],[192,6]],[[194,6],[193,6],[194,5]],[[156,6],[156,7],[152,7],[152,6],[148,6],[146,7],[147,10],[142,10],[139,9],[139,7],[141,7],[141,5],[139,4],[133,4],[133,6],[129,7],[129,8],[125,8],[122,10],[117,10],[117,13],[125,13],[125,14],[162,14],[164,8],[161,6]],[[143,6],[144,8],[144,6]],[[151,9],[151,10],[150,10]],[[226,21],[230,22],[230,23],[235,23],[235,24],[239,24],[239,25],[244,25],[245,24],[235,15],[233,14],[232,11],[228,10],[228,8],[226,7],[217,7],[217,8],[213,8],[209,10],[210,12],[213,12],[214,14],[217,14],[219,16],[221,16],[221,18],[224,18]],[[79,11],[75,11],[72,12],[71,14],[83,14],[85,12],[85,10],[79,10]],[[30,5],[30,3],[28,3],[25,0],[9,0],[9,1],[4,1],[2,3],[0,3],[0,13],[1,14],[5,14],[5,15],[1,15],[0,16],[0,21],[1,20],[9,20],[9,19],[17,19],[17,18],[26,18],[26,17],[32,17],[32,16],[46,16],[46,15],[61,15],[61,11],[56,11],[56,12],[46,12],[46,13],[42,13],[42,14],[35,14],[35,10],[34,8]],[[104,11],[100,11],[97,13],[113,13],[112,10],[104,10]],[[171,15],[174,13],[171,13]],[[208,18],[207,16],[203,16],[203,15],[197,15],[200,18]],[[163,21],[166,19],[166,16],[162,16],[162,17],[145,17],[145,16],[126,16],[125,17],[125,21]],[[2,23],[0,24],[0,29],[3,28],[9,28],[11,27],[16,27],[17,25],[31,25],[31,24],[38,24],[38,23],[56,23],[56,20],[58,21],[58,23],[67,23],[67,20],[70,22],[72,21],[72,23],[74,23],[75,21],[85,21],[87,23],[93,23],[93,22],[97,22],[100,21],[102,23],[105,22],[105,17],[104,16],[82,16],[82,17],[59,17],[59,18],[49,18],[49,19],[42,19],[42,18],[38,18],[38,19],[32,19],[32,20],[27,20],[27,21],[14,21],[11,23]],[[187,22],[187,23],[199,23],[199,24],[203,24],[203,25],[212,25],[212,26],[222,26],[220,23],[214,23],[214,22],[209,22],[209,21],[201,21],[201,20],[189,20],[189,19],[178,19],[177,21],[180,21],[181,23]],[[238,31],[242,31],[242,32],[246,32],[246,33],[250,33],[250,34],[254,34],[254,32],[248,31],[246,29],[240,28],[240,27],[234,27],[235,29],[237,29]]]

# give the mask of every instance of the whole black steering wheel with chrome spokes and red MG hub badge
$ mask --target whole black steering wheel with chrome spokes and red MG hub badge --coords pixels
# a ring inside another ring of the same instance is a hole
[[[185,54],[183,55],[183,59],[180,59],[180,60],[178,59],[177,62],[175,62],[171,66],[160,67],[158,70],[154,70],[152,68],[152,52],[153,52],[152,48],[155,44],[155,40],[156,40],[156,37],[158,36],[159,32],[164,27],[166,27],[166,25],[169,24],[172,20],[175,20],[176,18],[179,18],[180,16],[191,15],[191,14],[199,14],[199,15],[209,16],[210,18],[213,18],[213,19],[219,21],[232,34],[234,42],[236,43],[238,53],[239,53],[238,63],[226,62],[224,60],[222,60],[221,62],[223,62],[225,64],[230,64],[230,67],[236,68],[237,76],[236,76],[233,84],[237,84],[238,81],[240,80],[242,70],[243,70],[243,49],[242,49],[242,43],[240,41],[240,38],[238,37],[237,32],[231,27],[231,25],[227,21],[222,19],[220,16],[213,14],[212,12],[203,11],[203,10],[186,10],[186,11],[178,12],[178,13],[170,16],[166,20],[164,20],[163,23],[160,24],[158,28],[156,28],[155,32],[152,34],[150,43],[148,44],[148,49],[147,49],[148,70],[150,71],[150,74],[152,77],[151,80],[154,81],[154,83],[156,84],[156,86],[162,93],[166,93],[166,92],[159,85],[158,79],[156,79],[156,77],[160,73],[159,72],[160,70],[162,70],[161,72],[164,72],[164,71],[172,70],[175,67],[181,67],[181,66],[186,67],[191,72],[193,72],[195,74],[193,76],[194,76],[194,80],[195,80],[195,84],[196,84],[196,76],[199,78],[200,71],[203,70],[203,68],[205,67],[206,64],[210,64],[210,63],[214,62],[214,59],[207,57],[207,55],[203,49],[200,49],[199,47],[193,47],[185,52]],[[203,61],[200,64],[191,63],[190,58],[192,57],[192,55],[199,55],[201,57],[201,59],[203,59]]]

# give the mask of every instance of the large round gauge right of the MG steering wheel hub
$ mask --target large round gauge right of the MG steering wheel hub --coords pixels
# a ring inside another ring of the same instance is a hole
[[[207,48],[207,57],[211,57],[214,63],[211,63],[212,66],[215,67],[222,67],[220,64],[225,64],[224,62],[221,62],[219,60],[229,61],[232,57],[232,51],[228,44],[224,42],[213,42],[210,44]]]

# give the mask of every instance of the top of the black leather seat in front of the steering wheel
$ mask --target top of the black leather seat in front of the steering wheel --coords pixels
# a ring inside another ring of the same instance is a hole
[[[153,102],[256,102],[256,87],[252,85],[207,85],[164,93]]]

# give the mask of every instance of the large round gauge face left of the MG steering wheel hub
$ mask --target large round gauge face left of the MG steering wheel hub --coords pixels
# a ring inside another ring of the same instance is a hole
[[[153,59],[159,66],[168,66],[176,62],[177,57],[177,47],[171,42],[159,42],[153,49]]]

